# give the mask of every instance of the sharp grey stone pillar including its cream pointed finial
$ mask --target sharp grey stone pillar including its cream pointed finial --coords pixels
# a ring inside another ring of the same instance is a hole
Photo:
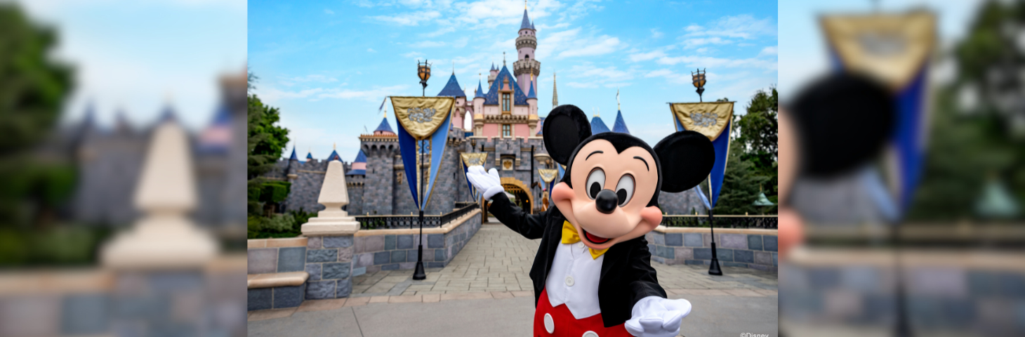
[[[341,210],[348,204],[345,172],[339,161],[328,163],[318,203],[326,207],[302,224],[306,241],[306,299],[348,297],[353,289],[353,235],[360,222]]]

